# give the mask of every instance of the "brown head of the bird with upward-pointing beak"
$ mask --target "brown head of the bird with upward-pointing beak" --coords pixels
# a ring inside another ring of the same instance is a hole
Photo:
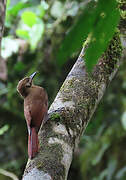
[[[36,72],[34,72],[31,76],[25,77],[24,79],[19,81],[17,85],[17,91],[22,97],[25,98],[28,95],[35,75],[36,75]]]

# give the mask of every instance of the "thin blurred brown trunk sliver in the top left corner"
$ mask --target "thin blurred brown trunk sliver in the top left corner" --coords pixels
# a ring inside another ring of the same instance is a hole
[[[1,53],[1,39],[4,30],[5,12],[6,12],[6,0],[1,0],[0,1],[0,53]]]

